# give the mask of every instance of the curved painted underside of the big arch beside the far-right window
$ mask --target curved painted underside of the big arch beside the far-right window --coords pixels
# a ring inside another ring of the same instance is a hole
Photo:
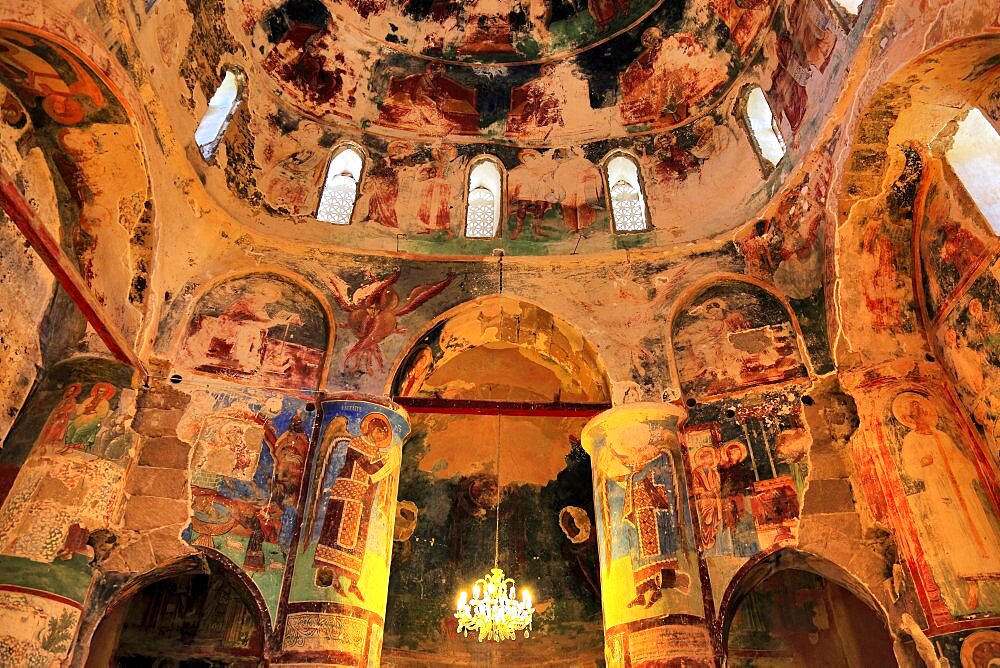
[[[997,85],[991,68],[1000,37],[979,35],[925,52],[885,83],[862,112],[840,181],[837,269],[841,322],[837,353],[848,365],[933,352],[917,316],[919,223],[929,190],[942,182],[935,138]],[[940,188],[939,188],[940,190]],[[970,269],[975,262],[969,262]]]

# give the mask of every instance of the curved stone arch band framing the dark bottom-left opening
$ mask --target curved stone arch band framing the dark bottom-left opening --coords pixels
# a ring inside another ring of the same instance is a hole
[[[74,665],[97,666],[101,665],[97,661],[111,658],[117,647],[117,633],[125,621],[123,616],[134,598],[150,586],[188,575],[225,578],[227,584],[243,599],[244,607],[256,616],[256,626],[260,632],[260,646],[257,650],[262,656],[276,651],[274,620],[271,619],[257,585],[226,555],[211,548],[197,549],[194,554],[134,575],[116,585],[106,585],[95,590],[88,601],[89,614],[85,614],[77,632]],[[108,647],[111,643],[113,646]],[[107,653],[108,656],[95,656],[95,652]]]

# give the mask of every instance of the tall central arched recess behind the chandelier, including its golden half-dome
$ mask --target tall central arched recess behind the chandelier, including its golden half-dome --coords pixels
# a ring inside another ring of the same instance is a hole
[[[594,346],[549,311],[510,296],[462,304],[415,337],[387,391],[404,405],[383,657],[491,662],[455,633],[455,595],[499,565],[544,615],[509,665],[603,660],[597,530],[583,426],[608,407]],[[499,457],[498,457],[499,454]]]

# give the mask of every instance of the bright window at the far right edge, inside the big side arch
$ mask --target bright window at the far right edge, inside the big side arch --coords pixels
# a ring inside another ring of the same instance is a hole
[[[959,121],[945,155],[993,233],[1000,235],[1000,134],[996,128],[973,107]]]

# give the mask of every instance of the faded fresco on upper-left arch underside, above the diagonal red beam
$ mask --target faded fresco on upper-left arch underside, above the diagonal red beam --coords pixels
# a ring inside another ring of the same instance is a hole
[[[55,238],[115,324],[135,335],[154,235],[145,161],[125,108],[68,49],[10,28],[0,30],[0,79],[13,94],[8,109],[30,117],[24,148],[39,147],[51,166]]]

